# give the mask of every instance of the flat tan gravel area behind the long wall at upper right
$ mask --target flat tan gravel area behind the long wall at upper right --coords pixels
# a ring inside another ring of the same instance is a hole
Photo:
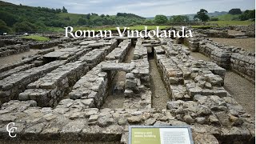
[[[228,46],[237,46],[255,52],[255,38],[210,38],[214,42]]]

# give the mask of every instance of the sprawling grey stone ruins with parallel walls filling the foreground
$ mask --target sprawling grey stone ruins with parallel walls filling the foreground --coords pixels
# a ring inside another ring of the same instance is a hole
[[[190,126],[194,143],[254,142],[254,118],[223,86],[226,69],[254,78],[255,54],[211,42],[199,30],[194,35],[184,45],[118,37],[38,44],[37,54],[0,67],[1,141],[128,143],[128,126],[141,125]],[[195,60],[190,51],[212,62]],[[169,95],[166,109],[152,105],[149,58]],[[124,82],[113,87],[119,71]],[[102,107],[110,91],[124,95],[122,108]],[[9,122],[18,127],[16,138],[6,132]]]

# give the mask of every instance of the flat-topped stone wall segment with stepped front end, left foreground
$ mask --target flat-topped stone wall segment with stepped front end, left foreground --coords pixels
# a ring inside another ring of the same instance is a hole
[[[56,70],[39,78],[38,81],[30,83],[25,90],[19,94],[19,100],[35,100],[38,106],[57,106],[58,102],[68,94],[75,82],[86,74],[89,67],[86,62],[70,62],[59,66]]]

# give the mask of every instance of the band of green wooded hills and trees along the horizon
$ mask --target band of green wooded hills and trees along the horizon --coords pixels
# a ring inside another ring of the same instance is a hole
[[[154,19],[146,19],[136,14],[127,13],[116,15],[69,14],[64,6],[62,9],[50,9],[22,5],[1,6],[1,4],[0,2],[0,33],[46,31],[50,27],[63,28],[65,26],[171,25],[177,22],[214,20],[208,16],[207,10],[204,9],[199,10],[192,20],[186,15],[175,15],[167,18],[162,14],[156,15]],[[229,13],[240,14],[241,20],[255,17],[255,10],[242,12],[240,9],[232,9]]]

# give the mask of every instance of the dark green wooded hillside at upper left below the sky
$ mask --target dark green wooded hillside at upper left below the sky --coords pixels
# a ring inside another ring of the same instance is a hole
[[[62,7],[62,6],[60,6]],[[46,31],[65,26],[130,26],[141,24],[146,18],[135,14],[117,15],[70,14],[64,7],[52,9],[14,5],[0,1],[0,33]]]

